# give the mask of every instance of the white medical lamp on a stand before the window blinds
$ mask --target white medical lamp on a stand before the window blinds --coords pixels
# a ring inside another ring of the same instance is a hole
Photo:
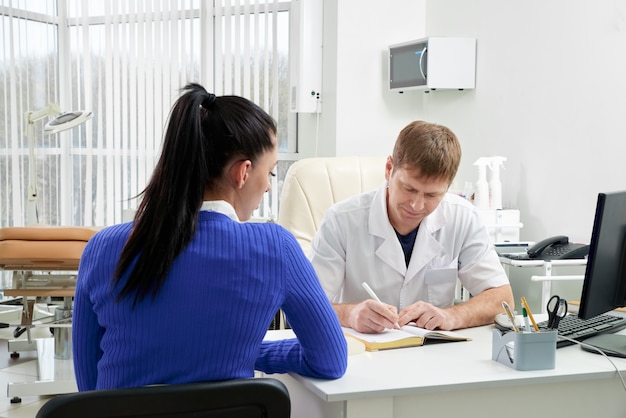
[[[54,119],[49,121],[44,127],[44,134],[52,135],[58,132],[71,129],[81,123],[91,119],[93,113],[86,110],[78,110],[74,112],[61,113],[61,108],[56,103],[49,103],[48,106],[37,111],[28,111],[24,114],[26,136],[28,137],[29,147],[29,176],[28,176],[28,213],[27,224],[39,223],[39,214],[37,212],[37,200],[39,199],[39,192],[37,191],[37,161],[35,159],[35,138],[33,133],[33,125],[40,119],[45,117],[55,116]]]

